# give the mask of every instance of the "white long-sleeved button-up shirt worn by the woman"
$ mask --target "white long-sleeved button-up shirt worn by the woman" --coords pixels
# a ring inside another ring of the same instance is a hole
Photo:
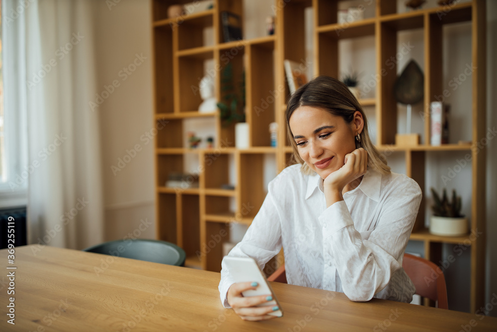
[[[289,284],[343,292],[352,301],[411,302],[415,288],[402,260],[420,202],[413,179],[368,168],[357,188],[327,208],[319,175],[292,165],[269,183],[229,256],[252,257],[262,270],[283,246]],[[219,292],[225,308],[233,283],[223,261]]]

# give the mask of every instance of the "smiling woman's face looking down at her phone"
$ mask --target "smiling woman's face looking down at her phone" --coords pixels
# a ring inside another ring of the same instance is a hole
[[[289,124],[300,157],[322,179],[344,165],[345,155],[355,150],[354,136],[362,130],[355,119],[347,124],[340,116],[310,106],[295,110]]]

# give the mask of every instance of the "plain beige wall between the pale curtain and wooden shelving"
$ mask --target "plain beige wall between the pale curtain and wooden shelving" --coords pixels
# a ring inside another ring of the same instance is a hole
[[[105,91],[104,86],[114,80],[120,84],[98,110],[105,240],[123,238],[133,231],[142,238],[155,238],[154,142],[147,144],[141,139],[153,128],[150,4],[148,0],[121,0],[109,8],[108,1],[95,2],[97,86]],[[137,54],[146,59],[136,60],[139,66],[133,68]],[[121,72],[130,65],[133,72]],[[111,166],[122,167],[118,159],[137,144],[141,151],[122,170],[113,171]],[[141,220],[154,224],[141,231]]]

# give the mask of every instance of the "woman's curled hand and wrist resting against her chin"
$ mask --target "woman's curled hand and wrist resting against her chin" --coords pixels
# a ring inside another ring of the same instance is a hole
[[[346,154],[344,165],[328,175],[323,183],[327,207],[343,200],[343,188],[363,176],[366,173],[367,167],[368,152],[362,147]]]

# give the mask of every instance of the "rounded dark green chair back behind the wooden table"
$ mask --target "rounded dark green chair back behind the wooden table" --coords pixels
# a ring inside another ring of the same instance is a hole
[[[177,245],[146,239],[104,242],[85,248],[83,251],[176,266],[184,266],[186,259],[185,251]]]

